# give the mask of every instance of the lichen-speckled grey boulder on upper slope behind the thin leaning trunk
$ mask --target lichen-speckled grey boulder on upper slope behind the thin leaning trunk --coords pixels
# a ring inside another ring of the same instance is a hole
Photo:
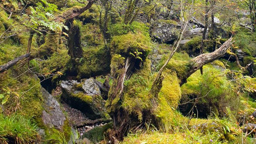
[[[178,38],[177,33],[180,27],[165,20],[155,21],[151,35],[160,43],[172,44]]]

